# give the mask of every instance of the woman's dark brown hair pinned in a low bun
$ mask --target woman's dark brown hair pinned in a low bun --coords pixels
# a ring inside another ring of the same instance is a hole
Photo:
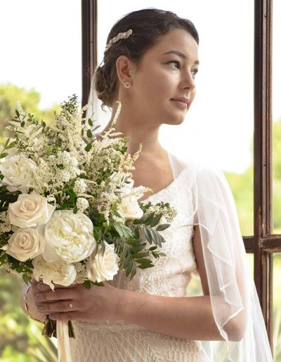
[[[171,11],[145,8],[128,13],[113,25],[107,36],[107,43],[120,32],[126,32],[129,29],[133,30],[133,34],[113,43],[104,53],[103,65],[96,68],[94,86],[98,98],[103,102],[102,108],[105,105],[112,107],[115,99],[118,84],[115,63],[120,55],[126,55],[137,64],[144,53],[157,43],[159,36],[168,33],[171,29],[186,30],[199,44],[199,36],[193,23],[188,19],[179,18]]]

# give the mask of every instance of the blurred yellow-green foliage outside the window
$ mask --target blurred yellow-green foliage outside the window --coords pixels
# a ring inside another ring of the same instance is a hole
[[[40,94],[34,90],[19,88],[11,83],[0,84],[0,142],[10,134],[5,129],[8,119],[15,112],[15,99],[20,100],[22,107],[40,121],[47,124],[53,120],[53,112],[59,112],[60,106],[51,109],[39,109]],[[11,135],[10,135],[11,136]],[[281,119],[273,123],[273,232],[281,234]],[[233,191],[242,235],[253,234],[254,214],[254,165],[243,174],[227,173]],[[253,270],[253,256],[248,255],[249,265]],[[274,257],[274,346],[275,361],[281,361],[281,254]],[[8,275],[0,269],[0,361],[56,361],[56,340],[41,336],[41,323],[25,316],[20,308],[20,290],[22,279],[18,275]],[[189,295],[202,293],[200,283],[192,279],[188,287]]]

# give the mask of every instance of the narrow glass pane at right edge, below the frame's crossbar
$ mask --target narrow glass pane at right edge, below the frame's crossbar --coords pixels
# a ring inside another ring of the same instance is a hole
[[[281,253],[273,255],[273,356],[281,361]]]

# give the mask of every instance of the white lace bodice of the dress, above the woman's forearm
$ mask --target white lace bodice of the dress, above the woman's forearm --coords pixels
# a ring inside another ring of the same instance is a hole
[[[137,274],[129,281],[124,273],[118,273],[112,281],[117,288],[136,290],[140,293],[183,297],[192,275],[198,276],[192,250],[192,227],[181,227],[192,223],[191,189],[188,180],[188,168],[184,168],[170,185],[152,194],[142,201],[152,204],[169,202],[178,211],[171,226],[162,232],[166,243],[161,251],[166,256],[151,257],[155,267],[137,269]],[[191,182],[191,180],[190,180]]]

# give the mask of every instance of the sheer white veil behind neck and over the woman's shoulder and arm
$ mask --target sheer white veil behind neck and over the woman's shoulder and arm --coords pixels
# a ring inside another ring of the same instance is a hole
[[[103,128],[108,116],[100,109],[91,81],[86,119]],[[96,133],[100,133],[98,128]],[[184,145],[182,147],[184,149]],[[171,154],[171,168],[176,177],[179,162],[187,164],[188,151]],[[244,248],[233,194],[223,170],[188,161],[192,177],[192,224],[199,225],[207,271],[211,309],[223,341],[199,341],[207,361],[270,362],[265,322]],[[189,218],[190,221],[190,218]],[[186,326],[189,328],[189,326]]]

